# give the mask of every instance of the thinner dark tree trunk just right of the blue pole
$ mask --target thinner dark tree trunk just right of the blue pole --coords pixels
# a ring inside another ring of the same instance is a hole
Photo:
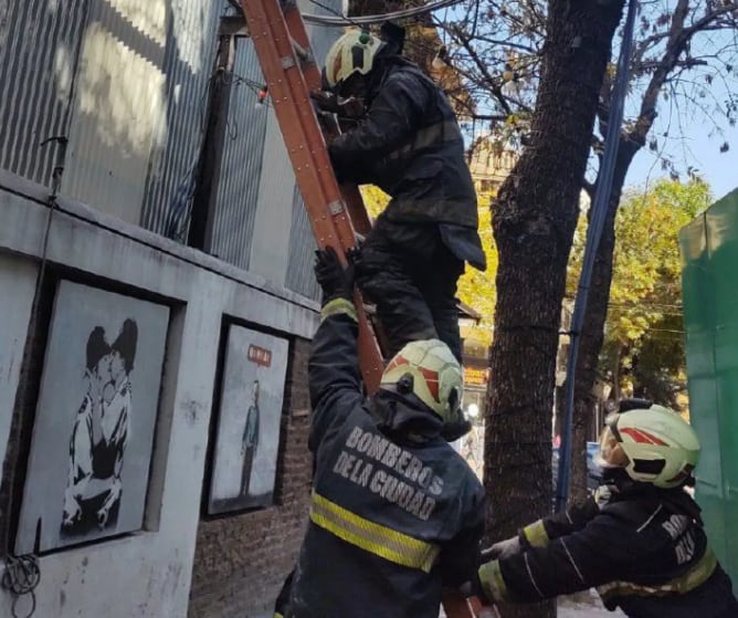
[[[579,358],[574,375],[574,416],[571,444],[571,486],[570,499],[587,495],[587,428],[592,418],[595,398],[592,395],[600,350],[604,341],[604,323],[610,302],[612,282],[612,260],[615,249],[615,216],[625,184],[628,168],[639,147],[633,142],[621,138],[618,160],[612,180],[612,192],[608,203],[608,216],[602,228],[602,237],[594,258],[592,281],[590,282],[587,311],[579,339]],[[582,482],[584,484],[582,484]]]

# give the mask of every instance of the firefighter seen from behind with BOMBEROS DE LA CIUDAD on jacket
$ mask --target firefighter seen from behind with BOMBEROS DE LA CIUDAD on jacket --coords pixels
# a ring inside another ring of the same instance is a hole
[[[315,473],[286,617],[437,618],[442,586],[474,574],[484,491],[444,439],[462,374],[437,339],[413,342],[366,399],[350,269],[318,252],[324,290],[308,383]]]

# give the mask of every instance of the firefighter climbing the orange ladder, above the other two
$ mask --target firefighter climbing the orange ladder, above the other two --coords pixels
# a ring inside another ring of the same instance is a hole
[[[456,283],[464,262],[484,271],[474,184],[444,93],[398,45],[352,29],[329,50],[324,80],[367,107],[329,145],[339,182],[391,196],[362,249],[359,287],[377,304],[393,356],[414,339],[442,339],[461,363]]]

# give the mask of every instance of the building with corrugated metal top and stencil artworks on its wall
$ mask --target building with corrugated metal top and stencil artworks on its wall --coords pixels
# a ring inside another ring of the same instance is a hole
[[[2,13],[0,553],[39,556],[41,617],[257,616],[306,521],[319,307],[253,46],[225,0]]]

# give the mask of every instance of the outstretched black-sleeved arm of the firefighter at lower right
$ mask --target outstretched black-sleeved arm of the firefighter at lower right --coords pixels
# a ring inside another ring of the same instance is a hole
[[[600,515],[544,547],[483,564],[478,584],[492,601],[539,601],[625,578],[642,553],[637,531]]]

